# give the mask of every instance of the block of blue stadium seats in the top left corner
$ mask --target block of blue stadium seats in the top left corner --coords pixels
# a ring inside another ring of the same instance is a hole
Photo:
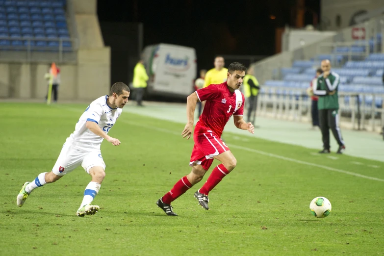
[[[0,50],[70,51],[65,0],[0,0]]]

